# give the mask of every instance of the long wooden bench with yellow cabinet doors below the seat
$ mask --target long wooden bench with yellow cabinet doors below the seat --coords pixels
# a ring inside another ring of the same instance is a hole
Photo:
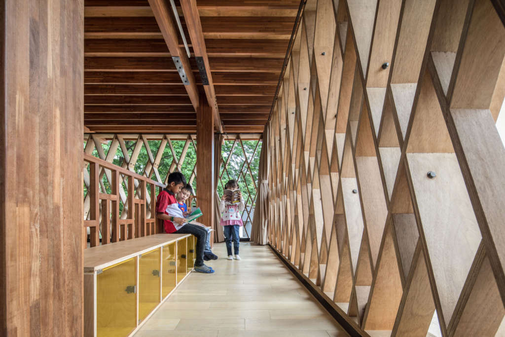
[[[133,334],[189,274],[190,234],[155,234],[84,251],[84,335]]]

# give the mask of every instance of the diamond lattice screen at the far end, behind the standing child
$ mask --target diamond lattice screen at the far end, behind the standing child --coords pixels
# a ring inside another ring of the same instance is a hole
[[[221,163],[218,175],[217,190],[222,196],[224,186],[229,179],[236,179],[245,209],[242,215],[244,231],[242,237],[249,237],[258,194],[258,169],[261,151],[261,140],[242,140],[240,135],[231,135],[224,140],[221,148]]]

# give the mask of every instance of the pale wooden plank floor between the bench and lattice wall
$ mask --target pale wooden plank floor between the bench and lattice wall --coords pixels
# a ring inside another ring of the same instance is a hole
[[[213,252],[216,272],[191,273],[135,337],[348,335],[267,246],[241,243],[240,261]]]

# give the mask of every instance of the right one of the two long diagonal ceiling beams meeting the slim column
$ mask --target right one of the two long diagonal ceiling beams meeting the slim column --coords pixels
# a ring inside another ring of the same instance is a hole
[[[211,67],[209,64],[209,57],[207,55],[207,47],[205,44],[204,34],[201,29],[200,16],[198,14],[198,9],[196,7],[195,0],[181,0],[181,9],[184,13],[184,21],[186,23],[186,28],[189,32],[189,37],[191,39],[191,45],[193,47],[193,52],[195,57],[201,57],[204,61],[205,69],[207,72],[207,78],[209,81],[208,85],[204,85],[204,91],[207,98],[207,102],[212,109],[212,114],[214,117],[215,127],[222,132],[221,119],[219,118],[218,104],[216,100],[216,92],[214,91],[213,75],[211,72]]]

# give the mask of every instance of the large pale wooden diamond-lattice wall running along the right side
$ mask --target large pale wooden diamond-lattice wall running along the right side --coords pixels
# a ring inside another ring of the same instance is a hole
[[[490,0],[308,0],[268,124],[269,239],[359,333],[505,335]]]

